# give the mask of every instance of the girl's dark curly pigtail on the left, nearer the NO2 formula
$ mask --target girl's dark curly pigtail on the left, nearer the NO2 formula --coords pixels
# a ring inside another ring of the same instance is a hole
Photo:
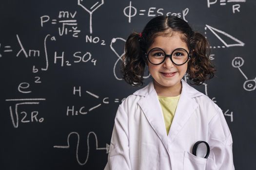
[[[125,54],[122,56],[121,73],[123,79],[130,85],[143,85],[145,57],[141,48],[143,35],[132,33],[125,43]]]

